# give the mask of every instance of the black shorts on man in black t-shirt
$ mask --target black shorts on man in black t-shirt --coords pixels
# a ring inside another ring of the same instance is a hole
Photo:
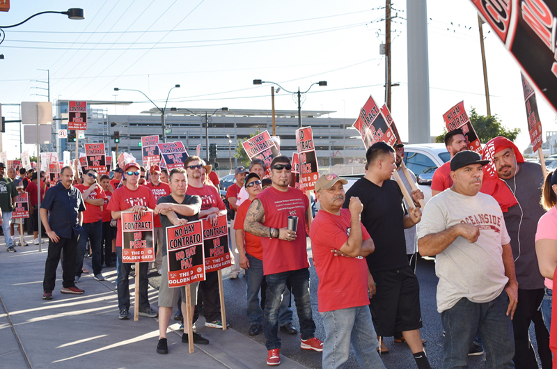
[[[377,293],[370,299],[370,311],[377,336],[422,327],[420,285],[410,267],[371,272]]]

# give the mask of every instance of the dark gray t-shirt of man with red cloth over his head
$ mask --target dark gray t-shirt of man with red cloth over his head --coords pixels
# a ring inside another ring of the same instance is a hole
[[[540,164],[525,162],[518,163],[518,166],[517,175],[504,181],[515,194],[519,205],[510,207],[503,217],[510,235],[512,256],[516,260],[518,288],[535,290],[544,288],[544,277],[540,274],[535,253],[535,230],[545,214],[540,205],[544,175]]]

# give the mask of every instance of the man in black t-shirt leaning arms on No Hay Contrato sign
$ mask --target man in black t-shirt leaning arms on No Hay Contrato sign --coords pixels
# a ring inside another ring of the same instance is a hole
[[[185,288],[168,287],[168,261],[166,249],[166,228],[172,226],[180,226],[188,221],[196,221],[199,219],[201,210],[201,197],[190,196],[186,194],[187,175],[184,168],[175,168],[170,173],[171,194],[159,198],[155,214],[160,214],[161,225],[163,230],[162,242],[162,271],[161,286],[159,288],[159,343],[157,352],[159,354],[168,354],[168,344],[166,343],[166,329],[172,315],[172,307],[178,301],[180,290],[182,291],[182,311],[186,309],[186,293]],[[196,305],[198,283],[192,283],[191,288],[191,311]],[[193,314],[192,314],[193,315]],[[182,342],[188,342],[187,333],[182,336]],[[194,343],[198,345],[207,345],[209,340],[194,333]]]

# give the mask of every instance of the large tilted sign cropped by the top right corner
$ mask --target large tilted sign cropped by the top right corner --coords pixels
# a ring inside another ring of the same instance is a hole
[[[548,0],[471,0],[503,41],[526,79],[557,113],[557,3]]]

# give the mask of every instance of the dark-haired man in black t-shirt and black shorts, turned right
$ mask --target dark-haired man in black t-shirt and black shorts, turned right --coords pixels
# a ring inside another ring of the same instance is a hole
[[[422,327],[420,286],[406,255],[405,228],[420,221],[417,208],[409,213],[402,203],[402,192],[391,180],[396,168],[395,150],[384,142],[374,143],[366,152],[368,173],[346,193],[347,199],[358,197],[363,204],[361,222],[374,244],[375,252],[366,256],[371,291],[370,311],[378,336],[393,336],[402,331],[419,369],[429,369],[419,329]],[[412,192],[414,201],[423,197]],[[345,208],[350,200],[345,201]]]

